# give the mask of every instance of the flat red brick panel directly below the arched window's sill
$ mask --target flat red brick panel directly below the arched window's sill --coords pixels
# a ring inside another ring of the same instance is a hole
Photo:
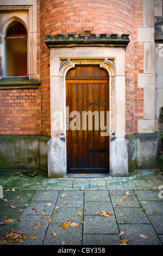
[[[41,133],[40,89],[0,90],[0,133]]]

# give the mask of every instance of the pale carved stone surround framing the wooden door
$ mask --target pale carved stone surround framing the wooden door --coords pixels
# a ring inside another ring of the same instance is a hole
[[[128,175],[128,141],[125,138],[125,50],[124,47],[50,47],[51,139],[48,142],[48,176],[66,175],[66,73],[77,64],[98,64],[109,73],[110,175]],[[54,112],[63,130],[54,131]],[[118,157],[117,157],[118,156]],[[121,167],[121,168],[120,168]]]

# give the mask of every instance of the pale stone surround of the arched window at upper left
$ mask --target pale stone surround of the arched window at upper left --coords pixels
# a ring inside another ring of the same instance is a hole
[[[14,3],[14,2],[13,2]],[[18,0],[16,5],[12,4],[10,0],[2,0],[0,5],[0,12],[7,15],[7,19],[1,25],[1,77],[4,77],[4,36],[8,26],[14,20],[20,21],[27,29],[28,34],[28,79],[40,81],[40,75],[37,74],[37,22],[36,22],[36,1],[29,0],[26,4]],[[13,13],[12,13],[13,11]]]

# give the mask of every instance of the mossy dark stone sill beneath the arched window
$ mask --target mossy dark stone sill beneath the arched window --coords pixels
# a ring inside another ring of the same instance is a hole
[[[39,81],[28,80],[28,77],[3,77],[0,79],[0,89],[38,89]]]

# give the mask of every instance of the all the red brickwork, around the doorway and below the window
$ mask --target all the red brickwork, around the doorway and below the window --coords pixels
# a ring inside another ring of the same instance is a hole
[[[142,27],[142,0],[37,0],[40,89],[0,90],[1,134],[51,135],[45,35],[90,32],[130,34],[126,49],[126,134],[137,132],[137,120],[143,117],[143,89],[137,88],[137,74],[143,72],[143,44],[137,42],[137,27]]]

